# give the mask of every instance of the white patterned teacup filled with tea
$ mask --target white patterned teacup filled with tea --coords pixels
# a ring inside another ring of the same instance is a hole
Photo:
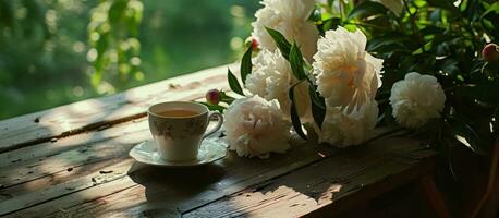
[[[196,159],[203,138],[217,132],[223,123],[222,114],[191,101],[156,104],[149,107],[147,117],[159,155],[168,161]],[[218,117],[218,123],[206,132],[212,117]]]

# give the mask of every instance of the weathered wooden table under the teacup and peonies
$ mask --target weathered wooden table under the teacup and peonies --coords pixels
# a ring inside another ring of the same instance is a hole
[[[289,153],[269,159],[231,152],[190,169],[147,167],[129,157],[135,144],[151,137],[149,105],[228,89],[226,72],[215,68],[0,121],[0,216],[332,215],[433,168],[431,152],[392,130],[377,130],[374,140],[353,148],[295,138]]]

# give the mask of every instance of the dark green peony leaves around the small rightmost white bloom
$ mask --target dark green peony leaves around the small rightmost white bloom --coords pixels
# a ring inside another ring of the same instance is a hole
[[[487,154],[499,134],[489,128],[499,119],[495,113],[499,106],[499,72],[497,64],[485,64],[480,51],[486,44],[498,43],[498,2],[407,0],[401,14],[372,1],[353,8],[341,7],[343,1],[332,2],[340,7],[317,7],[311,19],[322,34],[343,25],[361,28],[368,36],[367,51],[385,60],[377,96],[385,122],[394,121],[386,104],[392,84],[409,72],[430,74],[442,84],[447,96],[438,121],[447,124],[438,125],[433,141],[446,144],[442,142],[449,138],[445,137],[460,135],[473,150]]]

